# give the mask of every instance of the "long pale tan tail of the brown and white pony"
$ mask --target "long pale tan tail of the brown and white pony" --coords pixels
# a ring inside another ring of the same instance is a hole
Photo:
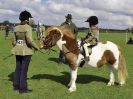
[[[128,73],[127,73],[126,62],[125,62],[123,53],[120,49],[119,51],[120,51],[120,55],[119,55],[119,64],[118,64],[118,79],[120,81],[120,84],[123,85],[125,83]]]

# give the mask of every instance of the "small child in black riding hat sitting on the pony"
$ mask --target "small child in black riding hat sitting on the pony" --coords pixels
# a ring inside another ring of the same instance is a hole
[[[85,22],[89,23],[89,32],[84,38],[83,48],[85,50],[85,60],[89,60],[88,47],[94,46],[99,40],[98,18],[96,16],[89,17]]]

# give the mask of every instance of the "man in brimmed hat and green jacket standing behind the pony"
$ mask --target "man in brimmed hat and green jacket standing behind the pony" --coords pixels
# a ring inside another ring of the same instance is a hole
[[[71,33],[74,34],[75,38],[77,39],[77,34],[78,34],[78,28],[77,26],[72,22],[72,15],[67,14],[66,21],[61,24],[61,26],[65,26],[66,28],[70,29]],[[64,59],[64,52],[60,50],[59,54],[59,63],[62,63],[65,61]]]

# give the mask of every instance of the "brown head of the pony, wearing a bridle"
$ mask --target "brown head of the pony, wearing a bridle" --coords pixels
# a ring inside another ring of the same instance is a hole
[[[40,41],[40,48],[51,48],[56,45],[56,42],[61,38],[61,32],[58,28],[48,28],[46,33],[46,37]]]

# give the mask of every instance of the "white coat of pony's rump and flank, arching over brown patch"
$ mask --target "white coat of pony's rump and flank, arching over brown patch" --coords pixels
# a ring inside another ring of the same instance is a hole
[[[92,53],[88,64],[93,67],[97,67],[97,62],[102,59],[104,53],[107,51],[113,54],[116,61],[118,60],[119,50],[116,44],[110,41],[98,42],[98,44],[92,48]]]

